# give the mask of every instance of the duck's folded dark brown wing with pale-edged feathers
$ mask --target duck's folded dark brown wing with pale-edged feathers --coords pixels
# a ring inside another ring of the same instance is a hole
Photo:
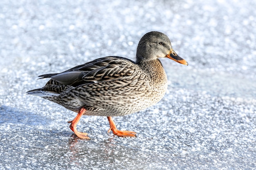
[[[113,56],[99,58],[62,73],[45,74],[39,77],[51,78],[61,84],[76,87],[87,83],[110,81],[132,76],[139,70],[139,66],[132,60]]]

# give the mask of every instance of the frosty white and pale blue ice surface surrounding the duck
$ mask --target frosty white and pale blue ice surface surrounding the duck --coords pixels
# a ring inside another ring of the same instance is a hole
[[[0,170],[256,169],[256,1],[0,1]],[[25,95],[98,57],[135,59],[148,31],[166,33],[189,66],[163,59],[168,92],[115,117],[137,138],[108,134],[106,117]]]

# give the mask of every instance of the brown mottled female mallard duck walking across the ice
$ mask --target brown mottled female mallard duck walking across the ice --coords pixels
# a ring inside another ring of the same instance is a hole
[[[146,33],[139,41],[136,62],[124,57],[103,57],[62,73],[40,75],[50,78],[43,87],[28,91],[60,104],[77,114],[68,121],[76,136],[90,139],[76,130],[82,115],[106,116],[110,130],[119,137],[135,132],[117,130],[112,116],[135,113],[159,102],[167,90],[167,77],[158,58],[188,63],[173,51],[169,38],[160,32]]]

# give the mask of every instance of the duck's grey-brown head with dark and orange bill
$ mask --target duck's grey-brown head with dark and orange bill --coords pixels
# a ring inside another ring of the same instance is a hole
[[[184,59],[175,53],[167,35],[157,31],[146,33],[139,41],[136,62],[141,60],[155,60],[157,58],[165,57],[178,63],[189,65]]]

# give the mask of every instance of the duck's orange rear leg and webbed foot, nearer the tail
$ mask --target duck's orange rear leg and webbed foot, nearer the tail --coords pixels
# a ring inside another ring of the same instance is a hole
[[[72,121],[68,121],[67,123],[71,123],[70,124],[70,129],[76,134],[77,137],[83,138],[83,139],[90,139],[87,135],[87,133],[83,133],[83,132],[79,132],[76,130],[76,125],[78,124],[80,118],[82,117],[82,115],[85,113],[86,109],[85,108],[81,108],[78,112],[78,114],[76,115],[76,117],[74,118],[74,120]]]

